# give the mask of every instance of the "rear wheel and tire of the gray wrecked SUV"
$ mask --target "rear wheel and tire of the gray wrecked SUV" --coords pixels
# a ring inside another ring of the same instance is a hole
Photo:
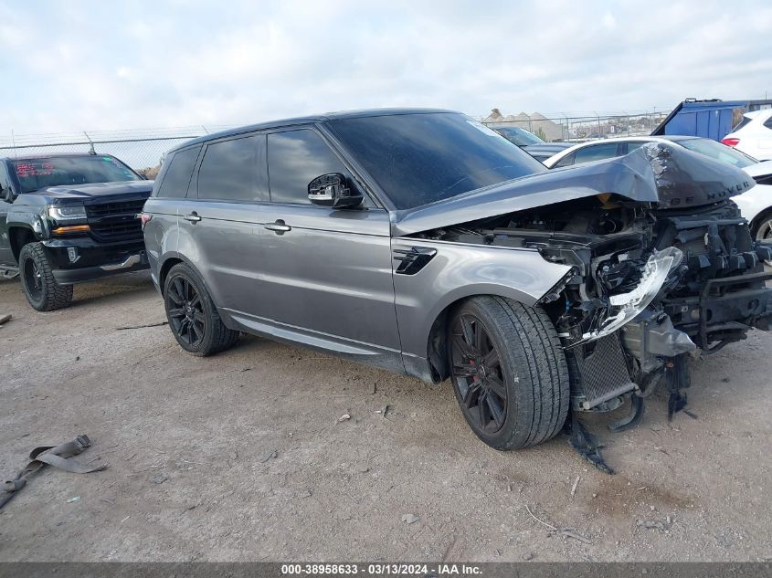
[[[166,276],[164,305],[174,339],[186,352],[204,357],[238,341],[238,331],[223,324],[204,283],[184,263],[174,265]]]

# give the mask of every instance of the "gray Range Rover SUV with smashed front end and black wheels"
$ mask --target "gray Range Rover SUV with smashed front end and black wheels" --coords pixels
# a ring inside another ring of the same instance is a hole
[[[209,355],[247,332],[428,383],[450,379],[499,449],[661,384],[767,330],[772,249],[731,197],[754,183],[666,144],[556,171],[448,110],[266,122],[175,148],[144,205],[174,338]],[[585,432],[586,433],[586,432]]]

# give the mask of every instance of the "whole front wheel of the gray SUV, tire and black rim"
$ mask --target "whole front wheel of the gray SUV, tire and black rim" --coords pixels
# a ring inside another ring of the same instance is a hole
[[[475,297],[451,316],[447,342],[461,412],[483,442],[517,449],[561,430],[568,415],[568,366],[543,310]]]

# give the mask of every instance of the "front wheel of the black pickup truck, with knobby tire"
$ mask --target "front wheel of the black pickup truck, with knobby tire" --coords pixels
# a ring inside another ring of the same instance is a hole
[[[40,243],[27,243],[19,252],[19,277],[29,304],[38,311],[53,311],[72,303],[72,285],[59,285]]]

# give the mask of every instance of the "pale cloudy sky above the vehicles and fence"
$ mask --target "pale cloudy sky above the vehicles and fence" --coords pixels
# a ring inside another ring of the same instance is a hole
[[[772,3],[0,0],[0,137],[772,98]]]

